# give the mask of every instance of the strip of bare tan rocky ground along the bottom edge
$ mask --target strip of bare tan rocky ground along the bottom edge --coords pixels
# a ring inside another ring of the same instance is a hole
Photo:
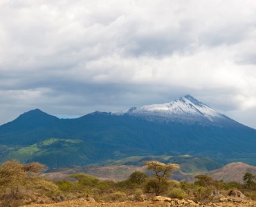
[[[170,207],[170,206],[191,206],[191,207],[247,207],[256,206],[256,201],[251,199],[222,199],[218,203],[198,203],[190,200],[169,199],[164,197],[155,198],[151,201],[123,201],[123,202],[95,202],[86,199],[75,199],[72,201],[62,201],[55,204],[30,204],[24,207]]]

